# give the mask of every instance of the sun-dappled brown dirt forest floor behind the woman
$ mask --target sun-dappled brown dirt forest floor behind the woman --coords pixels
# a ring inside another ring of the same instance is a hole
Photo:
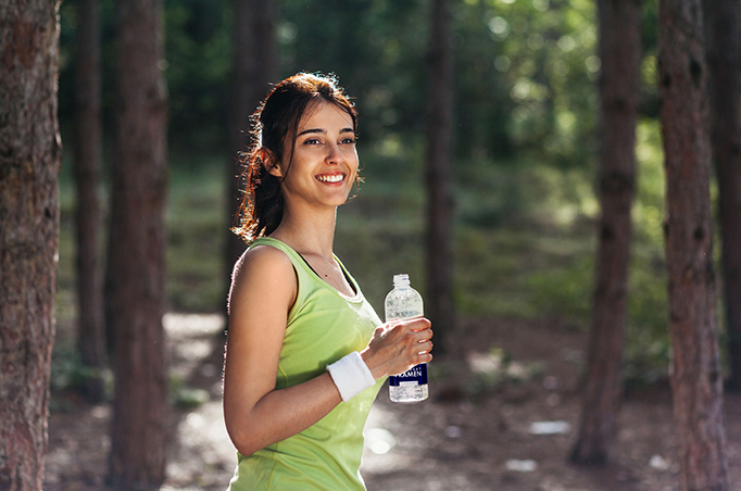
[[[236,462],[221,410],[223,319],[168,314],[165,326],[180,404],[161,491],[223,491]],[[585,332],[555,319],[480,319],[461,323],[449,340],[449,352],[430,364],[428,401],[394,404],[381,390],[365,431],[361,470],[369,491],[678,490],[665,383],[626,393],[612,464],[575,466],[567,456]],[[105,490],[110,404],[70,393],[53,400],[45,490]],[[726,395],[726,417],[729,479],[741,491],[741,396]]]

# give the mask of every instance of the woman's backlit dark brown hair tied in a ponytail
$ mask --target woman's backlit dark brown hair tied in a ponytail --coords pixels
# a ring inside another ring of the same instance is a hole
[[[250,243],[259,237],[272,234],[282,219],[282,179],[265,168],[264,151],[268,150],[275,162],[281,162],[284,143],[291,135],[291,154],[285,179],[293,159],[301,117],[311,103],[318,101],[329,102],[346,111],[352,118],[353,130],[357,131],[357,112],[334,75],[300,73],[288,77],[271,90],[252,114],[252,142],[249,151],[240,159],[240,180],[244,182],[244,196],[236,216],[237,225],[231,227],[231,231],[244,242]]]

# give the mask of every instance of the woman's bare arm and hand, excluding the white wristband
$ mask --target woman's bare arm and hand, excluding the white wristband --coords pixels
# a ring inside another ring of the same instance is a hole
[[[258,247],[235,269],[224,366],[224,418],[237,450],[250,455],[317,423],[342,399],[328,373],[275,389],[288,312],[298,284],[285,253]],[[378,379],[431,360],[424,318],[378,328],[363,353]]]

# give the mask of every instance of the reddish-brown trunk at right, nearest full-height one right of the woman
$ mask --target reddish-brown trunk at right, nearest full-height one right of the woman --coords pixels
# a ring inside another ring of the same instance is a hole
[[[670,379],[680,490],[728,490],[715,317],[707,64],[700,0],[660,1]]]

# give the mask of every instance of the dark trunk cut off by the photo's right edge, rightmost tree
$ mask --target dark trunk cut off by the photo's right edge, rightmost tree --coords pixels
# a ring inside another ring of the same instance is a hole
[[[729,390],[741,392],[741,60],[739,0],[705,0],[713,160],[730,362]]]

